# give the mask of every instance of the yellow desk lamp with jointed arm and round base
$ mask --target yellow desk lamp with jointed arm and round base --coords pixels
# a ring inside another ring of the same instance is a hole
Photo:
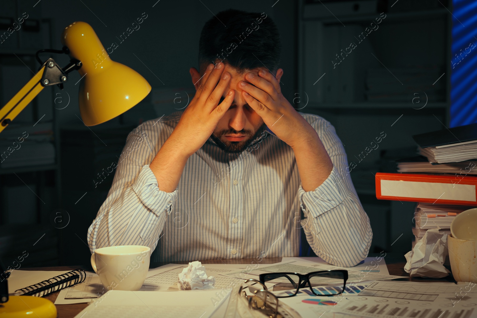
[[[0,133],[43,90],[45,86],[59,85],[68,80],[68,73],[78,70],[81,80],[79,106],[86,126],[104,123],[124,113],[142,101],[151,91],[151,85],[133,69],[113,62],[99,41],[93,28],[85,22],[73,22],[62,33],[62,50],[40,50],[36,58],[41,65],[33,78],[5,106],[0,109]],[[66,53],[71,62],[61,68],[52,59],[42,62],[43,52]],[[0,262],[0,274],[6,268]],[[0,276],[0,317],[57,316],[54,304],[41,297],[9,296],[8,276]]]

